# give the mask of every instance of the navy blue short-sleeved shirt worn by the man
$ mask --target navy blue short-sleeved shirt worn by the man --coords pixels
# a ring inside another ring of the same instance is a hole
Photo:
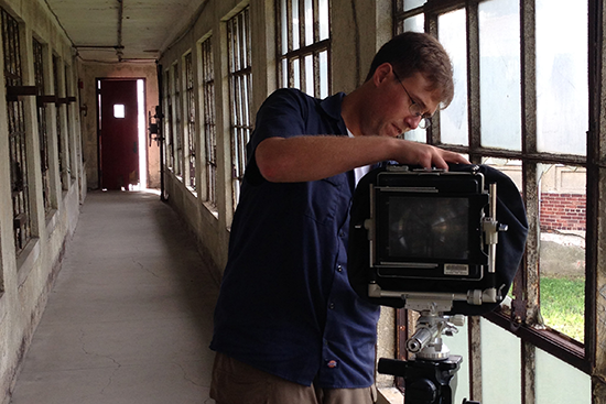
[[[344,94],[294,89],[261,106],[229,240],[210,348],[295,383],[367,387],[378,306],[347,279],[353,172],[309,183],[266,181],[255,149],[271,137],[347,135]]]

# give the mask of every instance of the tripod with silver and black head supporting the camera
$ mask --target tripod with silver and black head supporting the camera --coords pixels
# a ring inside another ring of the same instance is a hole
[[[444,316],[433,308],[421,312],[416,331],[407,341],[407,350],[415,353],[414,360],[379,360],[379,373],[404,378],[404,404],[453,404],[456,383],[451,382],[461,368],[463,358],[450,354],[442,335],[457,332],[463,316]],[[463,403],[479,404],[464,400]]]

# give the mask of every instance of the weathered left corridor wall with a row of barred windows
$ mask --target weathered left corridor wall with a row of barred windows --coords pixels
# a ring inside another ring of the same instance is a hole
[[[39,1],[0,1],[0,396],[8,397],[87,182],[76,63]]]

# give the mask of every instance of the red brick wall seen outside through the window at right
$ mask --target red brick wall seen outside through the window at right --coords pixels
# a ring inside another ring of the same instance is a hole
[[[541,194],[541,230],[585,230],[585,195]]]

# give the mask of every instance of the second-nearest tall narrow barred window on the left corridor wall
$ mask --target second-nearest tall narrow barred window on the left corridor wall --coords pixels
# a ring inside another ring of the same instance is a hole
[[[37,95],[43,96],[44,87],[44,46],[33,39],[34,53],[34,79],[37,87]],[[46,105],[37,103],[37,137],[40,140],[40,170],[42,172],[42,200],[44,201],[44,211],[51,210],[51,178],[48,161],[48,128],[46,122]]]

